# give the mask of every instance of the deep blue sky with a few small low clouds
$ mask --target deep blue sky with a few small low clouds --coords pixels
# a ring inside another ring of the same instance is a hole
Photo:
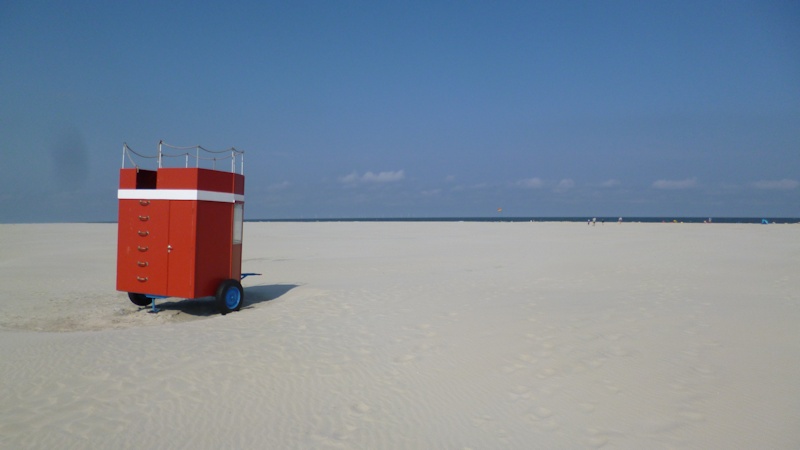
[[[0,2],[0,222],[162,139],[247,219],[800,217],[800,2]]]

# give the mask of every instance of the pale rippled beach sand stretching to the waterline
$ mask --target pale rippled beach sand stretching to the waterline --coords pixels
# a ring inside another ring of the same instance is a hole
[[[246,303],[0,225],[0,448],[800,448],[800,226],[247,223]]]

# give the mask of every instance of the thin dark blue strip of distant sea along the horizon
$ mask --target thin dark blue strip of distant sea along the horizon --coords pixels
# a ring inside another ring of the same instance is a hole
[[[320,219],[248,219],[245,222],[586,222],[594,217],[342,217]],[[596,217],[598,223],[616,223],[619,217]],[[622,222],[644,223],[800,223],[798,217],[622,217]]]

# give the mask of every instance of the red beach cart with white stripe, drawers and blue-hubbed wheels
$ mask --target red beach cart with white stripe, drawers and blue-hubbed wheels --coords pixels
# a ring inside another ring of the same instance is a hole
[[[148,157],[123,145],[117,290],[153,312],[156,299],[166,297],[214,296],[222,314],[241,308],[240,281],[255,275],[242,274],[243,156],[234,148],[159,142],[157,155]],[[156,167],[139,167],[143,158],[157,159]],[[180,158],[183,167],[166,167],[170,158]]]

